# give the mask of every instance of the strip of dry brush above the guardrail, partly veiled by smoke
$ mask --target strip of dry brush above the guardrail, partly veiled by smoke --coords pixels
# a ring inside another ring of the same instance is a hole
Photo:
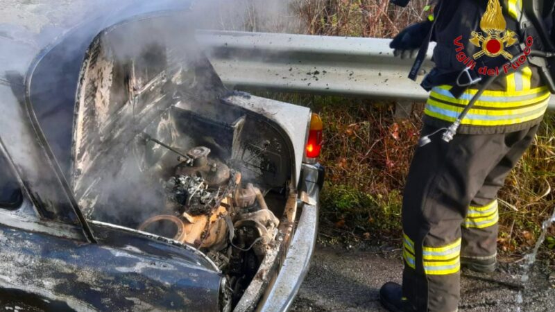
[[[210,27],[228,30],[392,37],[427,15],[427,1],[400,9],[388,0],[210,0],[207,11]]]

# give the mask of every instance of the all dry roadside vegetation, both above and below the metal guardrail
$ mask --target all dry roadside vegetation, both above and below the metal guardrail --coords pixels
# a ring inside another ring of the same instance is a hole
[[[300,21],[289,31],[393,37],[428,14],[423,10],[426,2],[413,0],[402,9],[388,5],[388,0],[293,0],[289,18],[298,16]],[[321,96],[278,98],[309,105],[325,122],[324,227],[347,230],[359,239],[397,238],[402,189],[421,126],[421,107],[410,119],[395,121],[391,103]],[[555,207],[554,133],[555,116],[546,116],[533,146],[499,193],[499,248],[505,254],[530,248]],[[555,249],[553,227],[544,249]]]

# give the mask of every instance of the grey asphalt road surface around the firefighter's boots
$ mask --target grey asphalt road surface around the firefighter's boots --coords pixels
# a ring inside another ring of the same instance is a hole
[[[292,311],[386,311],[379,305],[378,291],[386,281],[401,281],[400,251],[348,251],[318,246],[311,269],[302,284]],[[545,268],[536,268],[517,303],[522,268],[502,263],[493,275],[463,276],[461,312],[555,311],[555,288]],[[484,281],[479,279],[494,279]]]

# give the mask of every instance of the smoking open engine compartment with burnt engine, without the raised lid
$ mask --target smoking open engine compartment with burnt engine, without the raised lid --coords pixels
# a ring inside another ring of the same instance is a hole
[[[209,118],[206,109],[217,105],[227,106],[205,103],[199,112],[178,102],[143,129],[132,128],[137,134],[128,144],[115,143],[125,131],[110,144],[103,141],[103,148],[92,144],[91,154],[82,155],[94,163],[80,162],[85,171],[76,172],[76,194],[89,219],[164,236],[206,254],[225,275],[234,306],[275,248],[290,197],[290,161],[271,123],[232,106],[237,116],[228,112],[228,121]]]

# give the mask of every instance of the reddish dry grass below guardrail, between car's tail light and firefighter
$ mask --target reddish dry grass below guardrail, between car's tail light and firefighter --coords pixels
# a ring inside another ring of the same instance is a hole
[[[316,108],[318,110],[318,108]],[[366,239],[400,232],[402,189],[420,118],[393,120],[390,103],[325,103],[323,216]]]

